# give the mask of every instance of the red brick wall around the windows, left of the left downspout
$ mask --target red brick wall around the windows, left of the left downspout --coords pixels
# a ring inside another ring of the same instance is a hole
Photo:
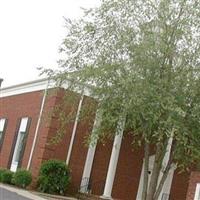
[[[8,119],[5,137],[0,152],[0,167],[6,168],[8,165],[11,147],[16,133],[17,120],[21,117],[30,117],[31,126],[22,159],[22,167],[27,167],[42,97],[43,92],[38,91],[0,99],[0,117]]]

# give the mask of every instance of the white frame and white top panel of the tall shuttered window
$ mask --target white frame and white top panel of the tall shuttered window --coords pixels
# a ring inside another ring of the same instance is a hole
[[[18,151],[19,151],[19,147],[20,147],[19,145],[20,145],[21,134],[24,133],[24,132],[25,132],[25,134],[27,134],[26,133],[27,125],[28,125],[28,117],[22,118],[21,122],[20,122],[19,130],[18,130],[18,133],[17,133],[17,140],[16,140],[15,149],[14,149],[12,162],[11,162],[11,166],[10,166],[10,170],[13,171],[13,172],[17,171],[17,168],[18,168],[18,165],[19,165],[19,161],[16,161],[16,156],[19,153]]]

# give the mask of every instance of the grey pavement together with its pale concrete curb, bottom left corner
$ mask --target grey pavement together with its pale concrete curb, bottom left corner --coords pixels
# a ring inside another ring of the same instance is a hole
[[[0,200],[46,200],[26,190],[0,184]]]

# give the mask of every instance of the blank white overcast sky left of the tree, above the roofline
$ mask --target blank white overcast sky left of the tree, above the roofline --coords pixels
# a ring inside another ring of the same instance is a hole
[[[0,78],[3,87],[38,77],[37,67],[56,67],[65,36],[63,17],[100,0],[0,0]]]

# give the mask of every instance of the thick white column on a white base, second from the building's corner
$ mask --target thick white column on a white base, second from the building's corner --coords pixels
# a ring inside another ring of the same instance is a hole
[[[119,158],[119,153],[120,153],[120,148],[121,148],[121,143],[122,143],[125,121],[126,121],[126,118],[123,117],[118,122],[115,139],[113,143],[113,148],[112,148],[112,153],[111,153],[111,158],[110,158],[110,163],[108,167],[107,177],[106,177],[106,183],[104,187],[104,193],[102,195],[102,198],[104,199],[112,199],[111,194],[112,194],[113,182],[115,178],[115,172],[117,169],[117,163],[118,163],[118,158]]]

